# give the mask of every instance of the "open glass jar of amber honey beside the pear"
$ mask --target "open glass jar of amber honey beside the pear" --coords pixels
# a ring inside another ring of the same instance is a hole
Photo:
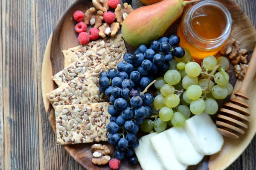
[[[178,27],[180,46],[191,56],[203,59],[215,55],[231,34],[232,19],[228,9],[215,0],[206,0],[191,6]]]

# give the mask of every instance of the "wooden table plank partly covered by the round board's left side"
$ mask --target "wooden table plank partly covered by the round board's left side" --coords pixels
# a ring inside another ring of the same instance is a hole
[[[38,81],[38,128],[39,128],[39,159],[41,170],[81,170],[83,169],[60,145],[45,113],[41,93],[41,67],[47,40],[55,28],[61,14],[70,6],[72,0],[38,0],[36,3],[36,51]]]

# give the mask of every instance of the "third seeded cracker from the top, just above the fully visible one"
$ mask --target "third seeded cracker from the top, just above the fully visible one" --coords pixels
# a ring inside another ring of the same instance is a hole
[[[107,97],[99,91],[98,79],[101,71],[105,71],[104,64],[98,65],[47,94],[52,106],[107,101]]]

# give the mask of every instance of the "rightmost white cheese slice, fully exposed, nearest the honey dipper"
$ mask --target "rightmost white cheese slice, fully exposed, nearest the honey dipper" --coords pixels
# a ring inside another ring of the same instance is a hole
[[[221,150],[223,137],[207,113],[195,115],[186,120],[183,127],[195,150],[204,155],[212,155]]]

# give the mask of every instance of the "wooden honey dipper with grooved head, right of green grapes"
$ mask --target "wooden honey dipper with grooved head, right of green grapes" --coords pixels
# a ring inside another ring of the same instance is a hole
[[[249,106],[245,102],[249,99],[248,88],[256,71],[256,46],[253,50],[252,57],[244,76],[243,82],[239,90],[235,93],[235,98],[230,99],[228,103],[224,103],[220,113],[217,115],[216,125],[218,132],[224,136],[239,139],[239,134],[244,134],[243,129],[247,129],[247,122],[250,121]]]

